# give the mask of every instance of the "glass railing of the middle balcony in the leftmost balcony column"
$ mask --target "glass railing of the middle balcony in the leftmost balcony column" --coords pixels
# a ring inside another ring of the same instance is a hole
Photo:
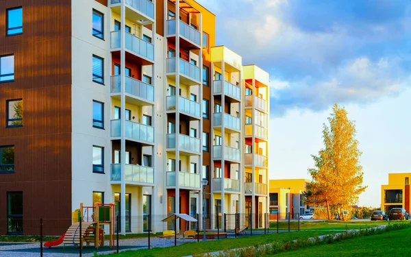
[[[111,93],[120,93],[120,75],[111,77]],[[147,101],[154,101],[154,86],[138,79],[125,76],[125,93],[140,97]]]

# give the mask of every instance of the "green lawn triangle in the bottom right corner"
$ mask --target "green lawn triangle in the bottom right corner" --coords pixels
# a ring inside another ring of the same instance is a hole
[[[295,251],[275,254],[275,257],[340,257],[340,256],[410,256],[411,228],[385,232],[379,235],[350,238],[329,245],[304,247]]]

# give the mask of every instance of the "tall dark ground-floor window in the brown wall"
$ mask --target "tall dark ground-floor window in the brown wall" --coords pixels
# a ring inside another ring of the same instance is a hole
[[[23,234],[23,192],[7,193],[7,232]]]

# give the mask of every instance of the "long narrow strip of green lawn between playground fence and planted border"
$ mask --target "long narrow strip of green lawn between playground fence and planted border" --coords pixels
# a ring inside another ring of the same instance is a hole
[[[261,245],[273,243],[273,241],[290,241],[297,238],[308,238],[321,234],[329,234],[329,232],[290,232],[279,234],[262,234],[258,236],[242,236],[240,238],[229,238],[207,242],[185,243],[175,247],[141,249],[132,252],[121,252],[120,254],[111,254],[112,257],[180,257],[192,254],[203,254],[207,252],[215,252],[223,249],[234,249],[251,245]]]

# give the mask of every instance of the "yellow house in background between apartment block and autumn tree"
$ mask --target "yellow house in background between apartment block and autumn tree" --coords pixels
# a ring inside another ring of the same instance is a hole
[[[270,180],[270,219],[287,219],[288,212],[293,219],[314,211],[303,203],[303,192],[309,182],[306,179]]]

